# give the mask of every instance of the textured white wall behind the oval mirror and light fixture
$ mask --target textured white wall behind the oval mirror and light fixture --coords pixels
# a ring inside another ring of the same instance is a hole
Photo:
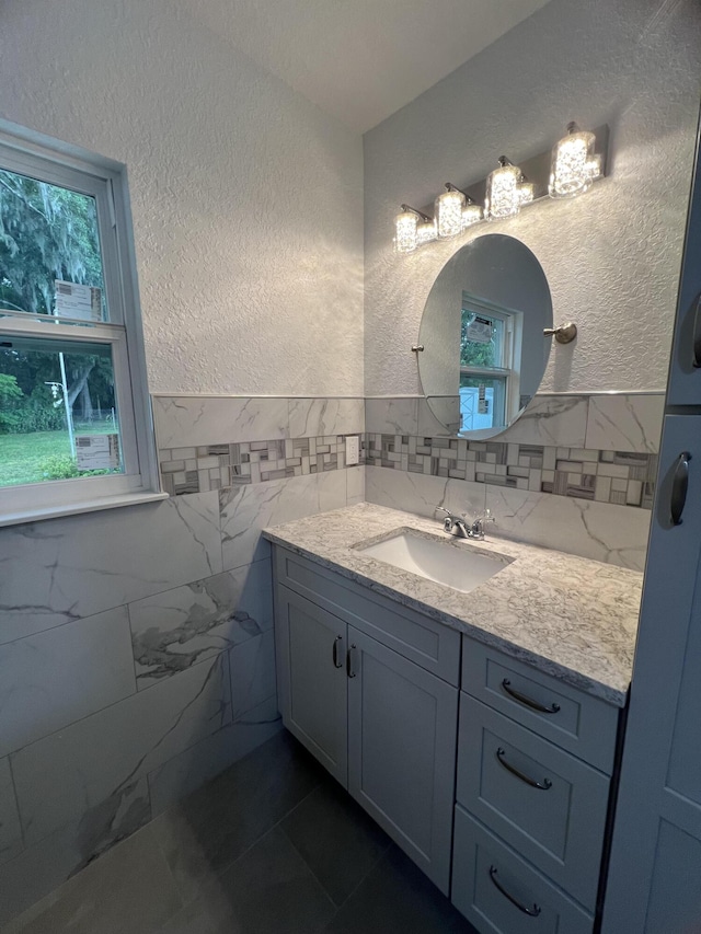
[[[551,0],[365,136],[366,392],[416,393],[421,315],[444,263],[471,237],[520,239],[545,270],[556,323],[543,390],[662,390],[699,113],[698,0]],[[399,205],[548,148],[570,119],[611,127],[610,176],[458,242],[392,254]]]

